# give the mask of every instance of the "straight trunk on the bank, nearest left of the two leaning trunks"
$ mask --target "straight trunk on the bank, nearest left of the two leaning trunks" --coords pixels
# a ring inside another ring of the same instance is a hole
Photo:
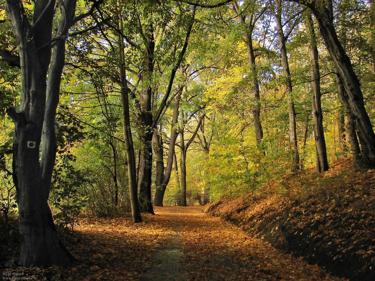
[[[306,13],[306,32],[309,36],[309,52],[310,52],[310,62],[311,62],[311,102],[312,102],[312,112],[314,121],[314,131],[315,131],[315,148],[317,152],[317,160],[319,165],[317,165],[317,172],[325,172],[328,170],[328,160],[327,160],[327,150],[326,141],[324,139],[323,130],[323,114],[321,107],[321,91],[320,91],[320,70],[318,62],[318,48],[317,40],[315,38],[314,24],[312,22],[311,13]]]

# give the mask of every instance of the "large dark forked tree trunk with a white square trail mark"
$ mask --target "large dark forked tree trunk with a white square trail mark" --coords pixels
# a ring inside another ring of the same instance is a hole
[[[74,258],[58,237],[47,203],[56,155],[54,126],[65,37],[56,41],[51,58],[54,2],[37,1],[32,25],[21,1],[7,0],[6,4],[19,47],[22,82],[18,112],[7,110],[15,125],[13,179],[20,218],[20,264],[69,266]],[[74,24],[75,5],[75,0],[64,1],[56,36],[66,36]]]

